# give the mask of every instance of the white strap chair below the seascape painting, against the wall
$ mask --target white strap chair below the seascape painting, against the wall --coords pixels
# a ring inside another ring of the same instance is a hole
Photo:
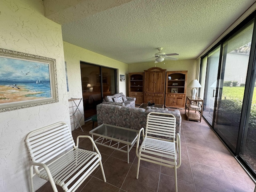
[[[89,138],[96,152],[78,148],[79,138]],[[35,175],[50,181],[54,192],[58,192],[56,185],[61,186],[66,192],[74,192],[99,165],[103,180],[106,182],[101,155],[92,138],[88,135],[80,135],[75,145],[70,128],[65,122],[34,130],[26,136],[25,141],[32,160],[30,164],[32,192],[34,192]]]

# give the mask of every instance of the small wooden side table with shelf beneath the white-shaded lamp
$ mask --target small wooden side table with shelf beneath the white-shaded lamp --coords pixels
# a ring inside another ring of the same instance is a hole
[[[202,114],[203,114],[203,102],[199,97],[186,97],[186,105],[185,105],[185,115],[188,120],[202,120]]]

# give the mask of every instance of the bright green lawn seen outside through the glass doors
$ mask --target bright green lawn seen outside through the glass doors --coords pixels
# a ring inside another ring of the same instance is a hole
[[[243,100],[244,98],[244,87],[223,87],[222,89],[222,100],[223,99],[238,99]],[[256,104],[256,88],[254,87],[252,104]]]

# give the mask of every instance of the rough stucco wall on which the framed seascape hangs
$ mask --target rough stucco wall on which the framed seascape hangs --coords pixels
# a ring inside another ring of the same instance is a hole
[[[0,113],[0,191],[30,191],[26,135],[70,124],[61,26],[44,17],[42,0],[0,1],[0,47],[56,59],[59,102]],[[35,177],[35,188],[45,181]]]

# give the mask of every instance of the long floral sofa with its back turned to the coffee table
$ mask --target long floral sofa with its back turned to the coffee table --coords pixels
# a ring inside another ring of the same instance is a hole
[[[98,125],[103,123],[120,127],[140,130],[146,127],[146,118],[149,112],[164,112],[173,114],[176,118],[176,130],[180,132],[181,115],[179,110],[168,111],[166,108],[147,107],[128,108],[115,104],[98,104],[97,119]]]

